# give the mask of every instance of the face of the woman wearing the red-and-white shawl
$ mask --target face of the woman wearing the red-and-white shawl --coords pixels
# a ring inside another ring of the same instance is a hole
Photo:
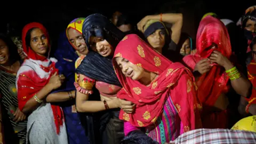
[[[48,39],[41,29],[35,28],[31,31],[30,47],[38,55],[45,56],[48,52]]]

